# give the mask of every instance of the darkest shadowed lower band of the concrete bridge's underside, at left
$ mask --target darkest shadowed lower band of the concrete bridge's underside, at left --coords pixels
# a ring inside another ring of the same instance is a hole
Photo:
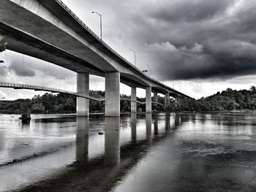
[[[78,58],[58,47],[48,44],[48,42],[32,37],[23,31],[7,26],[1,22],[0,34],[3,35],[4,42],[8,43],[8,50],[39,58],[43,61],[48,61],[73,72],[88,72],[89,74],[105,77],[105,73],[102,72],[102,70],[97,69],[82,58]],[[140,78],[131,74],[121,73],[120,78],[121,82],[130,87],[145,88],[149,86],[146,82],[143,82],[143,80],[140,80]]]

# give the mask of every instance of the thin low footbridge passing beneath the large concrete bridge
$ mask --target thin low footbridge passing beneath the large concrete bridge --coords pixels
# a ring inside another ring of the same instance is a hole
[[[37,86],[37,85],[26,85],[26,84],[19,84],[19,83],[0,82],[0,88],[28,89],[28,90],[34,90],[34,91],[47,91],[47,92],[51,92],[51,93],[65,93],[65,94],[68,94],[68,95],[77,96],[77,97],[81,97],[81,98],[85,98],[85,99],[89,99],[89,100],[105,101],[104,98],[95,98],[95,97],[91,97],[91,96],[83,96],[83,95],[78,94],[76,92],[67,91],[67,90],[64,90],[64,89],[48,88],[48,87]],[[135,103],[138,103],[138,104],[146,104],[146,102],[136,101],[136,100],[132,100],[132,99],[129,99],[129,98],[120,98],[120,100],[131,101],[131,102],[135,102]],[[152,101],[152,103],[153,104],[164,105],[164,104],[161,104],[157,101]]]

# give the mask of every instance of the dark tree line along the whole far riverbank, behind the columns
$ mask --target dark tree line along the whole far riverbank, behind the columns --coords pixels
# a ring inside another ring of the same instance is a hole
[[[94,98],[104,98],[105,91],[90,91]],[[121,95],[129,99],[130,96]],[[145,98],[137,98],[143,102]],[[158,96],[159,103],[164,104],[165,98]],[[121,100],[121,112],[130,112],[130,101]],[[145,112],[145,104],[137,104],[138,110]],[[45,93],[36,95],[32,99],[18,99],[15,101],[0,101],[0,113],[21,114],[24,110],[32,113],[73,113],[76,112],[76,97],[64,93]],[[231,88],[217,92],[212,96],[201,99],[170,99],[167,107],[152,105],[153,111],[181,112],[181,111],[223,111],[223,110],[256,110],[256,88],[252,86],[249,90],[236,91]],[[90,112],[104,112],[105,101],[90,100]]]

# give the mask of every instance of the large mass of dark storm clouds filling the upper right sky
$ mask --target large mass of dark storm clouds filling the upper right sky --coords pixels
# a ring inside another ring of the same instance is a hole
[[[152,21],[144,22],[146,28],[159,28],[147,39],[145,59],[158,77],[227,79],[256,73],[255,1],[175,2],[148,10],[144,18]],[[200,51],[193,51],[198,45]]]

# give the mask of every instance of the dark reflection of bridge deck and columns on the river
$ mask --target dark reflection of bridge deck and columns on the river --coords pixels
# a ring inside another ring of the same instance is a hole
[[[137,137],[137,115],[130,118],[131,139],[121,145],[120,118],[105,118],[105,153],[89,159],[89,119],[77,118],[76,161],[61,174],[55,174],[47,180],[34,183],[20,191],[109,191],[110,188],[124,177],[133,166],[138,164],[152,145],[164,139],[175,129],[181,118],[179,115],[164,115],[165,134],[158,135],[158,116],[151,118],[146,114],[146,138]],[[173,120],[170,120],[173,119]],[[173,125],[170,125],[170,121]],[[154,135],[152,135],[152,124]]]

